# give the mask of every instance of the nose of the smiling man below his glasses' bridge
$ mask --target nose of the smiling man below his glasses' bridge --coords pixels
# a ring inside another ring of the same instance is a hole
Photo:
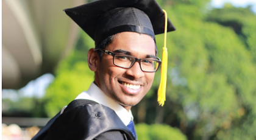
[[[134,79],[140,79],[141,77],[144,77],[144,72],[141,71],[140,63],[138,61],[134,63],[132,68],[127,69],[126,74],[130,75]]]

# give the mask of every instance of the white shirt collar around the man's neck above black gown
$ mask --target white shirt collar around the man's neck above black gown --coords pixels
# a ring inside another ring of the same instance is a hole
[[[127,111],[124,107],[119,105],[119,103],[115,102],[115,100],[104,94],[94,83],[91,83],[88,91],[82,92],[76,97],[76,99],[93,100],[111,108],[116,112],[126,126],[133,120],[132,111]]]

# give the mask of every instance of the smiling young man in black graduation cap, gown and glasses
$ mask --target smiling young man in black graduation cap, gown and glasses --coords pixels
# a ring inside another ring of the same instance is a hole
[[[164,32],[165,14],[155,0],[102,0],[64,11],[95,41],[88,52],[95,79],[34,139],[137,139],[130,108],[161,64],[155,34]]]

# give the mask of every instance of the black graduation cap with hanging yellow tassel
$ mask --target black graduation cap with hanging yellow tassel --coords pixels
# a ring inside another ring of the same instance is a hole
[[[176,30],[155,0],[99,0],[64,11],[93,38],[95,46],[110,35],[120,32],[143,33],[155,40],[157,34]],[[167,49],[164,46],[158,89],[160,105],[165,101],[166,76]]]

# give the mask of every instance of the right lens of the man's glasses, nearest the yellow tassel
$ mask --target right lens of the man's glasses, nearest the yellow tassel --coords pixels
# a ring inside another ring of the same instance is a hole
[[[151,59],[141,60],[141,69],[143,71],[153,72],[157,70],[158,66],[159,66],[159,63],[156,60],[151,60]]]

